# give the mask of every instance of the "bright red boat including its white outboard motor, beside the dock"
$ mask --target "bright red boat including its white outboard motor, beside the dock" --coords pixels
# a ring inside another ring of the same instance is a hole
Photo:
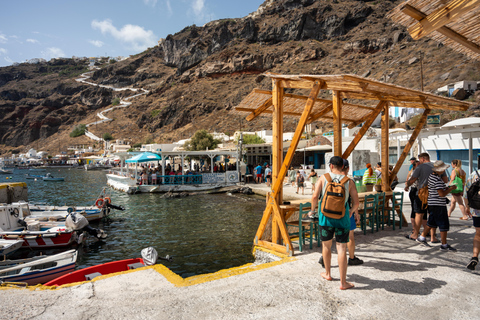
[[[145,266],[154,265],[157,261],[158,254],[157,251],[152,248],[145,248],[141,252],[142,258],[133,258],[119,261],[107,262],[104,264],[99,264],[96,266],[91,266],[88,268],[76,270],[69,274],[63,275],[52,281],[45,283],[45,286],[62,286],[70,283],[84,282],[95,279],[107,274],[114,274],[118,272],[124,272],[128,270],[134,270],[137,268],[142,268]],[[166,256],[161,258],[162,260],[172,261],[171,257]]]

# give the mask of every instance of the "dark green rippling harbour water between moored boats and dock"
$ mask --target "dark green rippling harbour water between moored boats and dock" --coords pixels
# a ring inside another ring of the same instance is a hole
[[[52,205],[89,206],[106,187],[103,171],[51,169],[47,172],[65,177],[65,181],[26,180],[27,170],[19,169],[10,176],[13,181],[27,182],[29,201]],[[160,194],[127,195],[111,188],[107,190],[112,203],[126,210],[115,211],[110,222],[92,223],[93,227],[104,229],[108,238],[103,243],[90,239],[80,250],[78,268],[136,258],[149,246],[160,256],[172,256],[173,262],[159,262],[182,277],[253,261],[252,243],[265,209],[264,199],[237,194],[162,199]]]

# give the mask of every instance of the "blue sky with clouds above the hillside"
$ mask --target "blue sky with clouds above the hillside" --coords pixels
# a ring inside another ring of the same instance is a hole
[[[184,27],[241,18],[264,0],[2,0],[0,67],[32,58],[128,56]]]

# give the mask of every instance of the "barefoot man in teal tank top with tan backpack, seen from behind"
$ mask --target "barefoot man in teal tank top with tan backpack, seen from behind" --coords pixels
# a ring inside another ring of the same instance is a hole
[[[318,218],[320,225],[320,239],[322,241],[322,256],[325,272],[322,278],[332,281],[330,274],[332,260],[332,239],[335,235],[337,243],[338,268],[340,271],[340,289],[353,288],[353,283],[347,282],[347,243],[350,232],[350,215],[358,209],[358,193],[354,183],[349,183],[349,178],[344,175],[343,159],[334,156],[329,163],[330,173],[326,173],[318,179],[315,192],[312,196],[312,210],[316,212],[317,202],[319,205]],[[349,195],[352,198],[352,208],[349,214],[345,214]],[[320,199],[320,201],[318,201]]]

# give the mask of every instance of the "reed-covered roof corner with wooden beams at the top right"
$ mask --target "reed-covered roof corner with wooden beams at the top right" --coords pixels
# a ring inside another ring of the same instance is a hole
[[[414,40],[428,36],[480,60],[480,0],[409,0],[387,15]]]

